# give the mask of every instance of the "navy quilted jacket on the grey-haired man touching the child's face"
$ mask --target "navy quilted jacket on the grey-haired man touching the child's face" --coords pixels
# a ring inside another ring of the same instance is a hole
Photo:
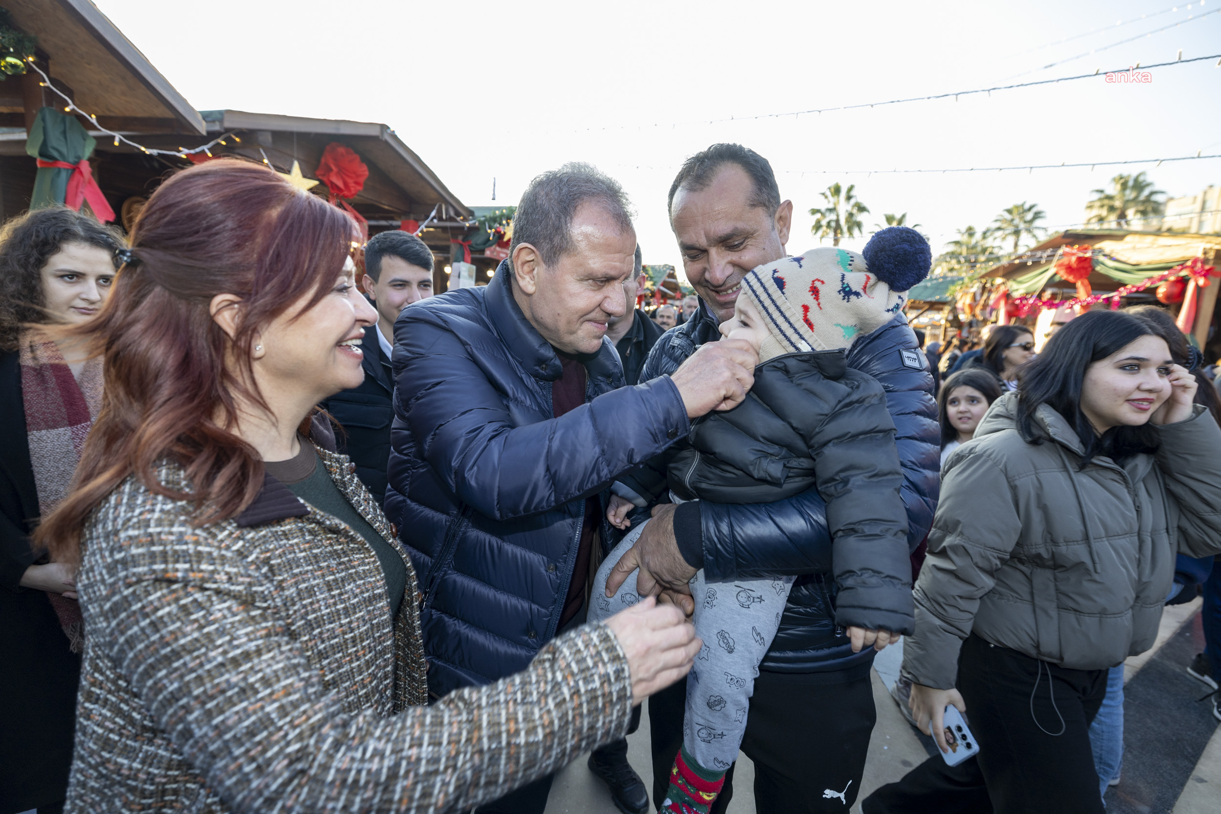
[[[624,387],[606,338],[581,360],[587,403],[553,417],[559,356],[512,279],[502,264],[486,287],[416,303],[394,322],[386,516],[420,577],[438,696],[530,664],[556,635],[585,499],[690,430],[674,383]]]

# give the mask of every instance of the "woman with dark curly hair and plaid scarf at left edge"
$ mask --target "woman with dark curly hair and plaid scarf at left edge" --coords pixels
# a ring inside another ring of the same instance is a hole
[[[63,206],[0,234],[0,812],[59,810],[81,677],[76,569],[29,535],[68,492],[101,403],[101,362],[39,325],[94,319],[117,231]]]

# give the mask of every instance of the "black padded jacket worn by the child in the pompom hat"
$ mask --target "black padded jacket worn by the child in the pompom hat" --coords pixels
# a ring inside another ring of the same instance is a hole
[[[755,369],[746,400],[694,422],[689,443],[621,482],[685,500],[772,503],[812,488],[834,541],[835,622],[913,629],[907,516],[895,422],[882,386],[844,351],[777,356]],[[647,480],[653,480],[647,483]]]

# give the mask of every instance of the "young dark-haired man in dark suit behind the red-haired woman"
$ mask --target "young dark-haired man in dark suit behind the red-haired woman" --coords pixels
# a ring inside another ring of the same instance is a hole
[[[394,320],[411,303],[432,297],[432,251],[408,232],[376,234],[365,247],[361,286],[377,309],[377,326],[365,328],[360,343],[365,381],[336,393],[321,406],[343,428],[336,433],[339,452],[352,459],[357,476],[381,503],[386,498],[389,425],[394,417],[394,373],[389,365]]]

